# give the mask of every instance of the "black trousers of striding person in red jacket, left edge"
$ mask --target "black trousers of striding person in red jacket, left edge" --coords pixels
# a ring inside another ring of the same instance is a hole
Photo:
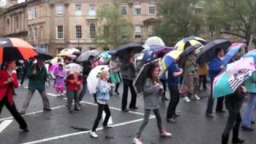
[[[6,96],[0,101],[0,114],[3,106],[6,106],[6,108],[10,111],[10,114],[14,116],[14,119],[18,122],[20,129],[27,128],[26,121],[24,118],[22,118],[22,115],[18,113],[15,104],[13,103],[13,105],[10,105]]]

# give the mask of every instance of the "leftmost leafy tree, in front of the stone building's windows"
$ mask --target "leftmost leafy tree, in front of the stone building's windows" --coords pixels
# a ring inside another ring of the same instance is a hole
[[[98,9],[97,43],[100,45],[120,46],[129,39],[130,22],[121,13],[118,3]]]

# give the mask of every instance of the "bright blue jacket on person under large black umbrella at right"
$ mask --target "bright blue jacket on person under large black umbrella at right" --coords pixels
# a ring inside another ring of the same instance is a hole
[[[222,60],[218,57],[212,58],[210,60],[210,63],[208,64],[210,79],[215,78],[222,71],[222,69],[220,68],[220,66],[222,65],[224,64]]]

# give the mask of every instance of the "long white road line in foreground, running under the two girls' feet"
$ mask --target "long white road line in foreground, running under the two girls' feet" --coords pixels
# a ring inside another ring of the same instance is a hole
[[[150,116],[150,119],[152,119],[152,118],[155,118],[155,117],[154,116]],[[129,125],[129,124],[132,124],[132,123],[135,123],[135,122],[142,122],[142,121],[143,121],[143,118],[139,118],[139,119],[135,119],[135,120],[132,120],[132,121],[129,121],[129,122],[117,123],[117,124],[114,124],[114,125],[111,125],[111,126],[113,126],[113,127],[125,126],[125,125]],[[102,129],[103,128],[100,127],[97,130],[102,130]],[[55,137],[51,137],[51,138],[39,139],[39,140],[36,140],[36,141],[33,141],[33,142],[25,142],[25,143],[22,143],[22,144],[35,144],[35,143],[49,142],[49,141],[57,140],[57,139],[60,139],[60,138],[68,138],[68,137],[71,137],[71,136],[80,135],[80,134],[88,134],[88,133],[90,133],[90,130],[80,131],[80,132],[70,133],[70,134],[64,134],[64,135],[59,135],[59,136],[55,136]]]

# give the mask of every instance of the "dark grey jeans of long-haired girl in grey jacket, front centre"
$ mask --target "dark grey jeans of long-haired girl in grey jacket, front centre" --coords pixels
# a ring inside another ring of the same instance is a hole
[[[147,123],[149,122],[150,112],[151,112],[151,110],[145,110],[142,125],[139,127],[138,132],[136,134],[137,138],[141,137],[142,131],[145,129]],[[162,131],[162,120],[161,120],[160,110],[155,109],[155,110],[153,110],[153,112],[154,112],[155,117],[157,118],[158,130],[159,130],[159,133],[160,133]]]

